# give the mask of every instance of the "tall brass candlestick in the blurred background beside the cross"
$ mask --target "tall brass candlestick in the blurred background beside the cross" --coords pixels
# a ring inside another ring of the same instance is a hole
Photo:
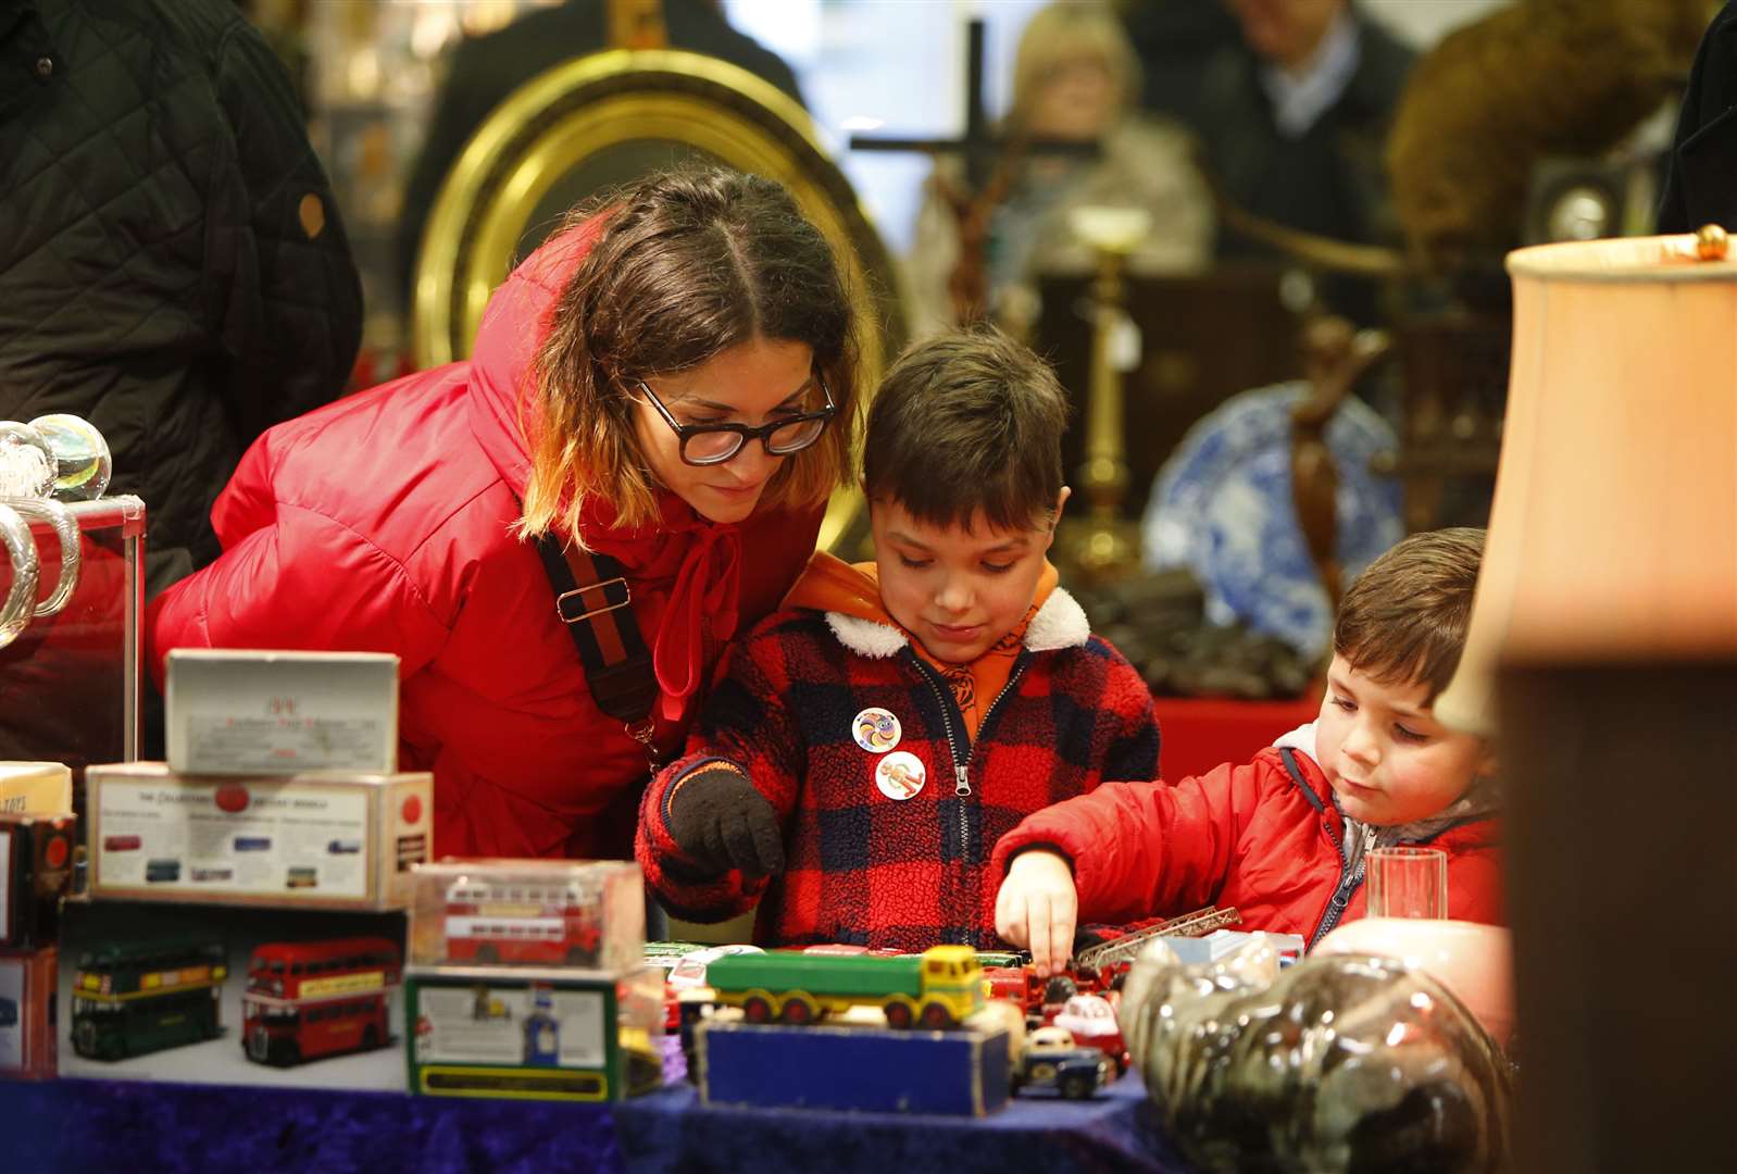
[[[1072,547],[1073,564],[1096,580],[1133,571],[1139,563],[1133,524],[1120,516],[1127,495],[1124,457],[1122,373],[1139,363],[1139,330],[1124,307],[1122,269],[1146,236],[1152,217],[1139,208],[1084,207],[1070,228],[1098,257],[1093,281],[1091,377],[1086,398],[1086,464],[1079,490],[1086,498],[1084,530]]]

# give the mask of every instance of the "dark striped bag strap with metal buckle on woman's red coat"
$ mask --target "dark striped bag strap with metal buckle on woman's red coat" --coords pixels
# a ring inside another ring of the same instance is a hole
[[[554,613],[585,662],[591,700],[650,750],[657,672],[627,606],[632,590],[622,564],[608,554],[563,545],[552,533],[537,538],[537,554],[554,587]]]

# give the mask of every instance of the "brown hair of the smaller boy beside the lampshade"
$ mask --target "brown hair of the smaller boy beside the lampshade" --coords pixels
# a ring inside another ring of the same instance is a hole
[[[1332,651],[1377,681],[1426,684],[1433,705],[1459,667],[1482,559],[1483,531],[1471,526],[1395,544],[1344,592]]]

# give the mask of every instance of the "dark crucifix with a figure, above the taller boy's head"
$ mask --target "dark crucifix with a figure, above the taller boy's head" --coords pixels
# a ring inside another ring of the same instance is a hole
[[[959,222],[959,264],[947,281],[954,302],[954,320],[973,323],[988,309],[988,222],[995,207],[1007,198],[1020,163],[1027,155],[1094,156],[1098,146],[1070,139],[1039,139],[1016,134],[1001,139],[990,132],[983,109],[983,21],[966,24],[966,132],[959,139],[895,139],[851,135],[853,151],[922,151],[964,156],[966,182],[961,186],[936,170],[935,182],[948,210]]]

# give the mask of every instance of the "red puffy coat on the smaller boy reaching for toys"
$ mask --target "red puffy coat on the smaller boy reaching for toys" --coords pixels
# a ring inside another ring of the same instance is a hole
[[[1284,754],[1268,747],[1174,787],[1105,783],[1039,811],[995,844],[995,875],[1014,851],[1053,846],[1073,861],[1082,924],[1233,905],[1238,929],[1313,945],[1364,915],[1362,868],[1346,874],[1344,818],[1320,766],[1292,750],[1292,775]],[[1503,924],[1497,835],[1494,818],[1475,818],[1414,841],[1447,851],[1449,917]]]

